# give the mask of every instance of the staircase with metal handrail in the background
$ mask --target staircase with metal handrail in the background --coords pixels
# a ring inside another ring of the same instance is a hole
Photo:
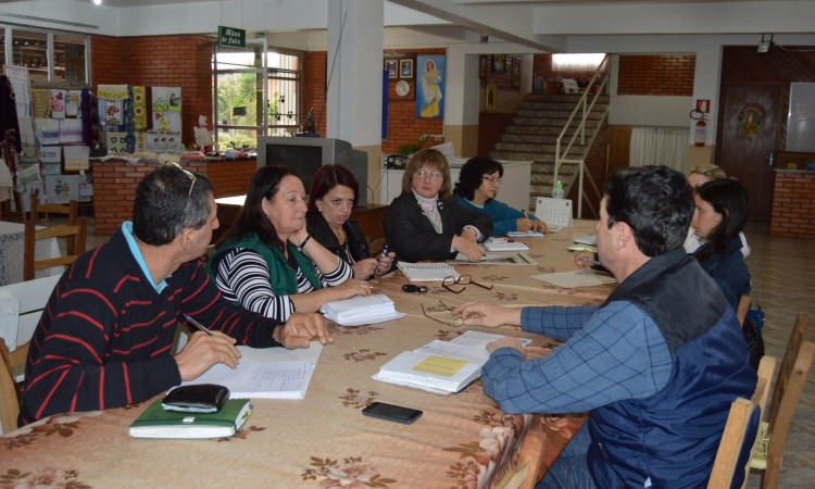
[[[557,138],[582,93],[544,95],[530,93],[496,142],[489,156],[494,160],[532,161],[529,209],[535,209],[538,197],[551,197],[555,175],[555,153]],[[600,95],[590,112],[586,114],[586,133],[578,135],[568,152],[569,161],[582,162],[609,114],[609,96]],[[567,143],[579,130],[580,117],[573,118],[562,138]],[[582,139],[582,140],[581,140]],[[563,149],[561,149],[563,151]],[[579,164],[562,164],[557,168],[557,179],[563,190],[569,195],[579,172]],[[581,192],[578,192],[582,195]],[[576,202],[578,203],[578,202]]]

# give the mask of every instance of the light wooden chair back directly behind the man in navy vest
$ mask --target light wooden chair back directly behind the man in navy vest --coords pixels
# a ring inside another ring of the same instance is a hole
[[[731,489],[747,486],[747,474],[749,469],[750,455],[755,444],[761,415],[767,402],[769,383],[776,359],[763,356],[758,365],[758,381],[750,400],[736,398],[730,405],[730,414],[727,416],[722,441],[716,451],[713,462],[711,478],[707,480],[709,489]]]

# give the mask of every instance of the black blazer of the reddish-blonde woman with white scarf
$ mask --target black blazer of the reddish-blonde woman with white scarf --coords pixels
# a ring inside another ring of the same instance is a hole
[[[385,218],[385,237],[397,259],[406,262],[422,260],[450,260],[455,252],[450,251],[453,236],[464,226],[474,226],[486,237],[492,234],[492,220],[489,215],[467,209],[454,196],[437,203],[441,214],[442,233],[437,234],[430,220],[422,213],[412,191],[393,199]]]

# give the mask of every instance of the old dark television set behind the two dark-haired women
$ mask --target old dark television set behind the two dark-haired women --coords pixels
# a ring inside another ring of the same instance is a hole
[[[258,167],[287,166],[303,180],[305,192],[314,173],[323,165],[340,164],[351,171],[360,184],[356,205],[367,203],[368,156],[351,143],[336,138],[258,136]]]

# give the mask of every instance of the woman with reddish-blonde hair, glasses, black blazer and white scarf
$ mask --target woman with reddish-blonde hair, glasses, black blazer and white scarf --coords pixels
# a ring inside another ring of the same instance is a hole
[[[450,166],[435,149],[411,156],[402,177],[402,195],[393,199],[385,220],[385,237],[406,262],[450,260],[456,253],[477,262],[478,243],[492,233],[487,214],[462,205],[452,197]]]

